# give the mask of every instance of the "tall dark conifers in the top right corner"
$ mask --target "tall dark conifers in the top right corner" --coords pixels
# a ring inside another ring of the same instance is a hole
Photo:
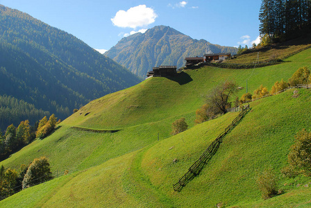
[[[260,36],[272,42],[310,33],[310,0],[262,0],[259,13]]]

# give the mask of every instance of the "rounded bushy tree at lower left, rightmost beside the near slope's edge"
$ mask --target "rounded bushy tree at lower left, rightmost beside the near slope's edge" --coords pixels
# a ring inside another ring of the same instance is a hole
[[[40,157],[33,160],[26,171],[26,175],[22,182],[23,189],[33,187],[53,178],[49,160],[47,157]]]

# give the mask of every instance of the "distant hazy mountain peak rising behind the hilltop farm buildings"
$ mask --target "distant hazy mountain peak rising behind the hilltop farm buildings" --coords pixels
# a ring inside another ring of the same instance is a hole
[[[237,49],[192,39],[169,26],[155,26],[146,33],[124,37],[104,55],[145,78],[152,67],[183,67],[186,57],[203,56],[204,53],[235,54]]]

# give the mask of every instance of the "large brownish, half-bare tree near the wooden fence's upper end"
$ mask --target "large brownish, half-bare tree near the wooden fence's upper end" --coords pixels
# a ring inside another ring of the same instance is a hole
[[[237,84],[233,81],[226,81],[217,85],[207,95],[207,104],[217,107],[221,112],[226,113],[230,107],[230,97],[237,92]]]

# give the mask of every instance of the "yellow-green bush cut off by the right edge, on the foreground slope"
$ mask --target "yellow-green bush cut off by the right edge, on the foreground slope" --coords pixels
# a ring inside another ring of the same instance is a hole
[[[311,175],[311,132],[305,129],[295,135],[288,154],[289,166]]]

